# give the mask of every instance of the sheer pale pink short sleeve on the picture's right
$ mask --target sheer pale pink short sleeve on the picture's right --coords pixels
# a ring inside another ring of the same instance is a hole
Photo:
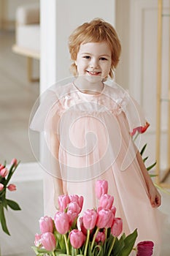
[[[144,127],[147,123],[144,111],[136,100],[128,93],[125,95],[125,104],[122,106],[125,117],[128,121],[129,132],[137,127]]]

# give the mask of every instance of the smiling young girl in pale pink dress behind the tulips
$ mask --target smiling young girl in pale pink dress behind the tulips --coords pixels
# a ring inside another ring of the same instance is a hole
[[[137,241],[154,241],[159,255],[156,208],[161,195],[131,138],[133,129],[146,121],[137,102],[107,81],[113,78],[120,50],[115,29],[101,19],[82,24],[69,37],[74,80],[48,89],[31,122],[31,129],[45,131],[50,157],[45,154],[43,163],[51,174],[46,179],[46,214],[54,216],[62,194],[83,195],[83,211],[95,207],[96,180],[106,179],[123,231],[137,228]]]

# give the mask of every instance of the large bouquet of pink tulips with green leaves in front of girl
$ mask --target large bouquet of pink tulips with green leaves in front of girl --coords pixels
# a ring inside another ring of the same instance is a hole
[[[54,219],[39,219],[41,234],[35,235],[32,247],[36,255],[128,256],[134,249],[137,230],[128,236],[121,235],[123,220],[115,217],[114,197],[107,191],[107,181],[96,181],[98,208],[84,211],[81,217],[83,197],[60,195]],[[137,255],[152,255],[152,247],[151,241],[139,243]]]

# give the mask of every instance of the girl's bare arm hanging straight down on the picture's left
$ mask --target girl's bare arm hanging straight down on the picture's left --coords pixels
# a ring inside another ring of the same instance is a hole
[[[52,167],[53,173],[53,186],[54,186],[54,203],[55,207],[58,208],[58,196],[63,195],[63,181],[61,179],[61,170],[58,162],[58,150],[60,142],[58,140],[58,135],[50,132],[50,151],[51,151],[51,160],[50,164]]]

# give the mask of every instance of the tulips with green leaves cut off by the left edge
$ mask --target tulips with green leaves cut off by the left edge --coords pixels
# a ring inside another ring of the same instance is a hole
[[[20,206],[15,201],[7,199],[6,192],[7,189],[9,191],[16,190],[15,184],[9,184],[9,181],[12,175],[14,174],[15,170],[17,169],[18,165],[19,162],[15,158],[12,159],[9,169],[6,167],[6,162],[4,163],[4,165],[0,164],[0,221],[2,230],[9,236],[10,234],[4,216],[4,208],[7,209],[7,207],[9,206],[9,208],[12,208],[12,210],[17,211],[20,210]]]

